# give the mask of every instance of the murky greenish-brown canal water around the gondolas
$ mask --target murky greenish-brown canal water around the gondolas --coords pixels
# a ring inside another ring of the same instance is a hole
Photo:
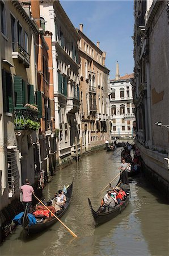
[[[62,221],[78,238],[73,238],[58,222],[47,232],[27,237],[18,226],[1,246],[1,255],[169,255],[168,205],[160,191],[154,191],[142,177],[130,184],[131,198],[122,214],[98,228],[88,207],[90,197],[98,208],[98,192],[118,173],[119,148],[84,156],[79,163],[60,170],[44,189],[50,199],[58,189],[68,185],[74,175],[70,208]],[[118,178],[115,180],[116,185]]]

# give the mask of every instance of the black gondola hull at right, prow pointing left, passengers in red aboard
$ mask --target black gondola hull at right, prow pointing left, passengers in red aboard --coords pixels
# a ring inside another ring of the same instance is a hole
[[[112,220],[112,218],[115,218],[117,215],[119,215],[129,204],[129,185],[128,189],[126,191],[126,198],[124,201],[120,203],[120,205],[116,205],[114,208],[107,207],[108,209],[106,212],[102,212],[102,207],[99,207],[98,210],[94,210],[91,205],[91,201],[88,198],[88,204],[91,209],[92,216],[94,217],[94,221],[96,225],[103,224],[109,220]]]

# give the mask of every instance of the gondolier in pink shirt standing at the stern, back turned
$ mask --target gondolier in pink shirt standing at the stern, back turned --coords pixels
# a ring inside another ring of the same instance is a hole
[[[20,187],[20,190],[22,191],[22,203],[24,209],[26,209],[26,212],[28,213],[32,204],[32,194],[34,194],[34,189],[31,185],[29,185],[28,179],[26,179],[26,184]]]

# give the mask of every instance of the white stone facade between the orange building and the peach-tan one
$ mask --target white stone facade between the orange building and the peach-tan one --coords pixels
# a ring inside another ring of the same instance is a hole
[[[55,127],[62,163],[80,150],[79,35],[59,1],[40,1],[40,17],[45,30],[52,32]]]

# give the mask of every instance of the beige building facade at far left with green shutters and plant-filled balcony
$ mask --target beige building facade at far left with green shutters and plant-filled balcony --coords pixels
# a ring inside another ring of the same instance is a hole
[[[1,1],[1,207],[19,196],[26,177],[35,181],[39,129],[36,51],[38,30],[18,1]],[[33,144],[34,143],[34,144]]]

